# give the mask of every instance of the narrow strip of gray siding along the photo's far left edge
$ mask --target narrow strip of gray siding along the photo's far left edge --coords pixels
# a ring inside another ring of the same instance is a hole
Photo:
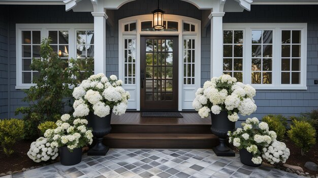
[[[8,118],[8,18],[0,7],[0,119]]]

